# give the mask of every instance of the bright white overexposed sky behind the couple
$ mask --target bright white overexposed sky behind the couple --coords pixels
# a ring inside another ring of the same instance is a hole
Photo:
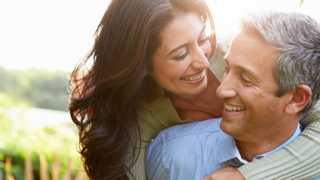
[[[93,43],[110,0],[0,2],[0,66],[71,71]],[[232,33],[237,18],[256,9],[293,10],[320,21],[318,0],[207,0],[217,35]]]

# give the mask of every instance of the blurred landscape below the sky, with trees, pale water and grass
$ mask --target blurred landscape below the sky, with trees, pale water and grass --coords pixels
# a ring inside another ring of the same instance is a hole
[[[0,179],[84,179],[67,76],[0,67]]]

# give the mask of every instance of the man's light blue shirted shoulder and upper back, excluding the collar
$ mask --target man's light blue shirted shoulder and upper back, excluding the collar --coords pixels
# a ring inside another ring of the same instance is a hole
[[[208,119],[164,129],[148,144],[148,179],[201,179],[218,164],[219,119]],[[207,166],[207,165],[210,166]]]

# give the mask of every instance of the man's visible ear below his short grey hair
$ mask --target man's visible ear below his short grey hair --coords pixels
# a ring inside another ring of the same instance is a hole
[[[285,107],[285,113],[287,115],[294,115],[302,110],[309,102],[311,97],[311,89],[307,85],[300,85],[294,92],[292,99]]]

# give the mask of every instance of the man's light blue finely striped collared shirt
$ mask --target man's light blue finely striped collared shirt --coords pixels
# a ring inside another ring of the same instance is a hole
[[[242,160],[232,136],[220,129],[219,119],[208,119],[165,129],[148,144],[148,180],[194,180],[229,165],[240,167]],[[290,144],[301,133],[298,127],[285,143],[253,160],[268,156]]]

